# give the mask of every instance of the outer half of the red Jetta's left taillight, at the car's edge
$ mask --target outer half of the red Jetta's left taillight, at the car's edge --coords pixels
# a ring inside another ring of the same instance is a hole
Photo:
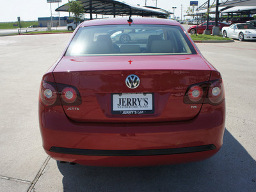
[[[46,106],[52,106],[57,100],[56,88],[51,84],[42,81],[40,88],[40,99]]]

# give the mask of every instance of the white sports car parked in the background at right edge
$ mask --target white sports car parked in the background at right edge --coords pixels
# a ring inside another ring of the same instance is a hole
[[[251,24],[236,23],[221,29],[223,37],[236,38],[239,41],[256,40],[256,28]]]

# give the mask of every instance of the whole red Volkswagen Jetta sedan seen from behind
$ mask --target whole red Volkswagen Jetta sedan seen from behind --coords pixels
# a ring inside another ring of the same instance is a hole
[[[56,160],[200,161],[222,145],[223,81],[178,22],[90,20],[43,76],[39,120],[45,152]]]

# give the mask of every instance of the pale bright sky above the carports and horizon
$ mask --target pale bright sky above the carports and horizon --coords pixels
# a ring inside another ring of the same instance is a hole
[[[145,0],[120,0],[130,4],[145,5]],[[193,0],[194,1],[194,0]],[[182,15],[189,6],[190,0],[147,0],[147,6],[156,6],[163,8],[164,10],[173,12],[172,7],[175,9],[175,17],[181,15],[181,4],[183,7]],[[206,0],[199,0],[198,4],[205,3]],[[51,17],[51,7],[47,0],[0,0],[0,22],[17,21],[17,17],[20,20],[38,20],[38,17]],[[68,3],[68,0],[62,0],[60,4]],[[54,10],[58,8],[58,3],[51,3],[52,17],[58,17],[58,12]],[[66,12],[60,12],[60,17],[68,16]],[[86,17],[89,17],[87,14]]]

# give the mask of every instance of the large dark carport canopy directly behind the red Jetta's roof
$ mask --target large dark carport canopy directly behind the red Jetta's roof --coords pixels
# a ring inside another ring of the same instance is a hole
[[[165,10],[156,10],[152,8],[146,8],[140,5],[133,5],[123,3],[116,0],[81,0],[84,7],[84,13],[90,13],[90,19],[92,14],[101,15],[141,15],[141,16],[167,16],[170,12]],[[68,3],[63,4],[57,8],[56,12],[68,12]]]

